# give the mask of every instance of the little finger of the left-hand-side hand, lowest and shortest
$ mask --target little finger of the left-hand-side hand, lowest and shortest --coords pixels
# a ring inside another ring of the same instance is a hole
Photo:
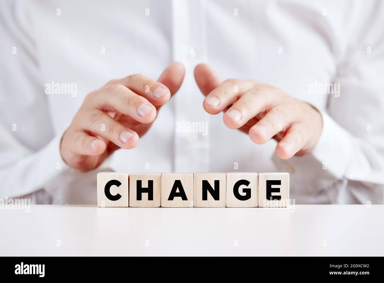
[[[74,132],[71,140],[73,140],[71,150],[78,155],[99,155],[105,151],[107,146],[102,139],[83,131]]]

